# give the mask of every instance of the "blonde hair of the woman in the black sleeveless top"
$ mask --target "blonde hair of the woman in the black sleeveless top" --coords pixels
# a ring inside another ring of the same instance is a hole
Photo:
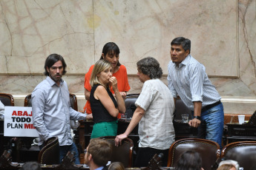
[[[96,62],[96,64],[93,67],[93,71],[91,72],[91,80],[90,80],[91,87],[93,87],[94,84],[101,84],[102,86],[105,86],[104,84],[102,84],[99,81],[99,78],[98,78],[97,75],[100,72],[102,72],[105,69],[108,69],[110,67],[112,67],[112,65],[109,61],[105,61],[105,60],[102,59],[102,60],[99,60],[99,61]],[[105,88],[107,88],[108,86],[105,86]]]

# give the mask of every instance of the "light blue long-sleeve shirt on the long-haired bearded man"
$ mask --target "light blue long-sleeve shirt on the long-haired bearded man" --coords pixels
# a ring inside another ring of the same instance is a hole
[[[86,117],[70,107],[67,83],[62,80],[58,86],[49,76],[32,92],[32,114],[39,145],[49,137],[58,137],[60,146],[71,145],[70,119],[85,120]]]

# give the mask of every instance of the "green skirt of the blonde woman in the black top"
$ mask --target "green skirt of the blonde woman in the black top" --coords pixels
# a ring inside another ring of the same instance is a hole
[[[102,136],[116,136],[117,120],[112,122],[100,122],[93,125],[91,139]]]

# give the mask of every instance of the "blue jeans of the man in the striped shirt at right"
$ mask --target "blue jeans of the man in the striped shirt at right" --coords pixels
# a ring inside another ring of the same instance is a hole
[[[224,126],[224,111],[223,103],[217,106],[211,107],[201,113],[201,124],[198,127],[198,137],[213,140],[220,145],[222,148],[222,137],[223,137],[223,126]]]

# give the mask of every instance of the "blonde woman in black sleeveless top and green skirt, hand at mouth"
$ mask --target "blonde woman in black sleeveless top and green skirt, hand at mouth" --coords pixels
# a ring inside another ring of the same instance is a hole
[[[92,86],[90,101],[93,113],[93,132],[91,138],[115,136],[117,132],[117,115],[125,112],[125,102],[117,88],[113,67],[109,61],[99,60],[93,67],[90,84]],[[114,95],[110,91],[114,90]]]

